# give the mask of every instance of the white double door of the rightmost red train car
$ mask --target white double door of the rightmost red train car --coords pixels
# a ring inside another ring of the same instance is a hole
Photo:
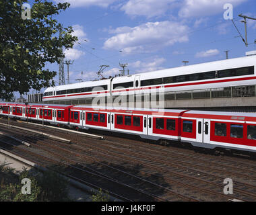
[[[197,119],[197,142],[210,143],[210,120]]]

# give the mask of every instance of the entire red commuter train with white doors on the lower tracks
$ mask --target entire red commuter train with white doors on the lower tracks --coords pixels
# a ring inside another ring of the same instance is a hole
[[[255,113],[2,102],[0,115],[148,140],[172,140],[199,148],[256,152]]]

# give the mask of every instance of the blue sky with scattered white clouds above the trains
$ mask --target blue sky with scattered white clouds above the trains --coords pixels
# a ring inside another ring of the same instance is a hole
[[[119,63],[127,63],[129,73],[145,73],[187,64],[245,56],[256,50],[255,0],[53,0],[71,6],[57,19],[64,27],[73,26],[79,43],[64,50],[69,66],[70,83],[98,78],[101,65],[108,65],[102,75],[120,73]],[[225,7],[226,3],[232,8]],[[232,9],[232,10],[231,10]],[[225,16],[226,15],[226,16]],[[230,17],[233,15],[232,23]],[[46,69],[59,73],[58,64]],[[65,64],[67,83],[67,65]],[[59,77],[55,77],[56,85]],[[41,92],[44,89],[41,90]]]

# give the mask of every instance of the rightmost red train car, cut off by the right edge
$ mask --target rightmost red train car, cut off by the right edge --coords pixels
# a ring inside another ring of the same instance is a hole
[[[181,118],[181,141],[202,148],[256,152],[256,114],[188,111]]]

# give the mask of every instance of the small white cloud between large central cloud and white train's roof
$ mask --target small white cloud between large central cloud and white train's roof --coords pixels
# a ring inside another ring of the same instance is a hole
[[[135,62],[129,63],[129,67],[134,68],[136,73],[145,73],[150,71],[157,71],[160,69],[164,69],[160,67],[160,65],[166,61],[165,58],[154,58],[148,60],[149,62],[141,62],[141,60],[137,60]]]

